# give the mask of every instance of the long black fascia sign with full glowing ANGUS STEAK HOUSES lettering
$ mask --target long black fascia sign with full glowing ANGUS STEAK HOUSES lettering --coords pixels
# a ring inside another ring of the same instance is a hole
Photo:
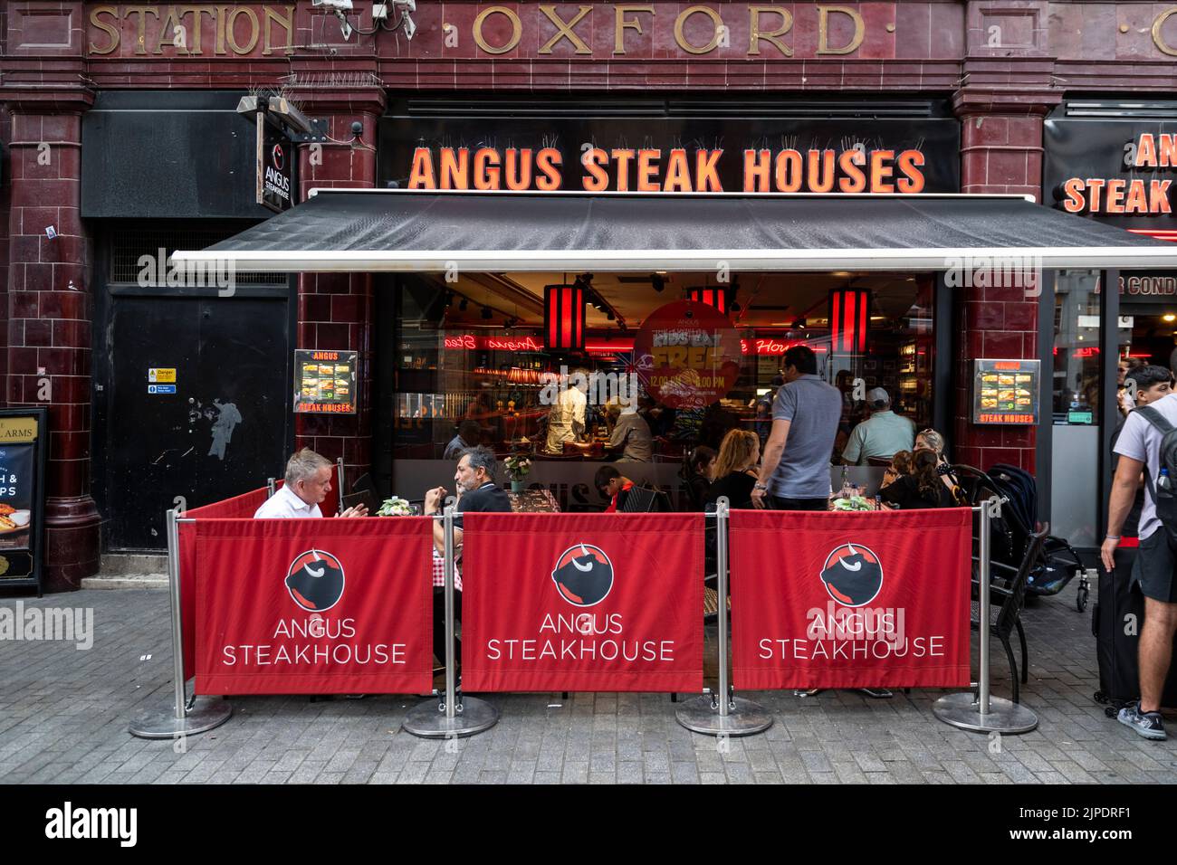
[[[959,189],[945,118],[385,118],[379,182],[507,192]]]

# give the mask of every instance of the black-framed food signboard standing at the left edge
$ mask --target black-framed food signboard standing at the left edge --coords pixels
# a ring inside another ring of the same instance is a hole
[[[44,593],[48,411],[0,408],[0,588]],[[27,530],[24,528],[27,526]],[[13,575],[8,575],[13,574]]]

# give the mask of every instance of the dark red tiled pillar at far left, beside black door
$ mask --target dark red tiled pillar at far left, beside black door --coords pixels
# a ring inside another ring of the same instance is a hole
[[[98,572],[101,518],[89,493],[91,268],[81,222],[81,115],[93,93],[0,89],[12,114],[7,404],[47,406],[45,585]],[[52,235],[52,237],[51,237]]]

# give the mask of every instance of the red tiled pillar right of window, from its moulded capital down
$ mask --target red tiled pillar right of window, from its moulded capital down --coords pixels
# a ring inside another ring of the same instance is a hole
[[[955,108],[960,118],[960,188],[972,193],[1015,193],[1040,198],[1042,122],[1059,94],[1031,85],[1043,61],[971,60],[969,80]],[[1049,64],[1044,67],[1049,68]],[[956,399],[949,431],[952,458],[989,468],[996,463],[1035,471],[1036,430],[1030,426],[978,427],[972,424],[972,374],[977,358],[1037,358],[1038,298],[1020,280],[1002,287],[956,288],[952,326],[959,352]],[[1049,371],[1044,371],[1049,374]],[[1049,406],[1040,410],[1049,417]]]

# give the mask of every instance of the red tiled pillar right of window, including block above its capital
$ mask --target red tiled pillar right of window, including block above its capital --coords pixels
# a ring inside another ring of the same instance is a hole
[[[965,86],[953,97],[960,119],[962,192],[1040,199],[1043,120],[1062,98],[1051,89],[1046,6],[1028,0],[969,4]],[[1015,45],[1019,47],[1012,52]],[[996,271],[982,277],[971,262],[963,264],[952,288],[959,346],[953,360],[953,422],[946,431],[952,458],[980,468],[1006,463],[1033,472],[1035,427],[977,426],[971,399],[977,358],[1038,357],[1040,291],[1035,262],[1025,262],[1012,279],[996,279],[1002,275]],[[1049,407],[1045,411],[1049,417]]]

